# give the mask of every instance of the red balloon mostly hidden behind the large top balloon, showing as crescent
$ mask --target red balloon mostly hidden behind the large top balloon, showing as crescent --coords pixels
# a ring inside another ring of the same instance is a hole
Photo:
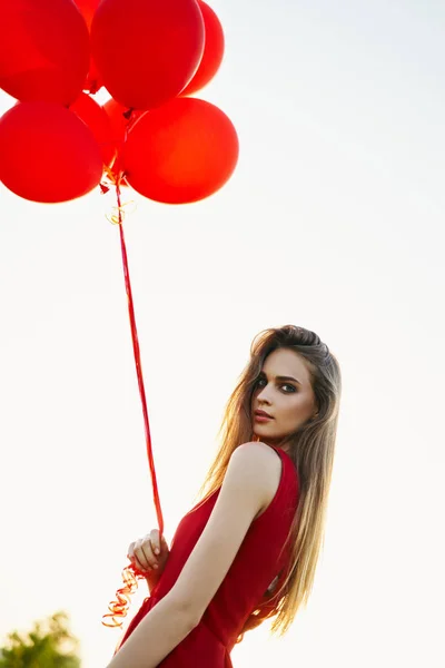
[[[190,84],[186,86],[181,95],[191,95],[200,90],[215,77],[221,65],[224,57],[224,31],[218,17],[212,9],[202,0],[198,0],[199,9],[202,13],[204,26],[206,29],[206,39],[202,53],[202,60]]]

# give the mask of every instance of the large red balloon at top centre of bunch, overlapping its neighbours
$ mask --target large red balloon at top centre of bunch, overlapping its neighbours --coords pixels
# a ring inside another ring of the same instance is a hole
[[[204,51],[196,0],[102,0],[91,50],[103,85],[127,108],[152,109],[176,97]]]

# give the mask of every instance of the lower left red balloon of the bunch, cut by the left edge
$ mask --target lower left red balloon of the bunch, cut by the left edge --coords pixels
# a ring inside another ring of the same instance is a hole
[[[24,199],[68,202],[102,176],[91,130],[55,102],[18,102],[0,119],[0,180]]]

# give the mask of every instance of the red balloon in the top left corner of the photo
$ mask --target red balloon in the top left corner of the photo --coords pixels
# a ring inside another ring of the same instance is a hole
[[[88,73],[89,36],[71,0],[0,0],[0,87],[22,100],[71,104]]]

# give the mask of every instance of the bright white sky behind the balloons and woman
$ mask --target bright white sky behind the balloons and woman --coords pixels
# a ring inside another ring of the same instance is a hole
[[[288,636],[248,633],[234,665],[442,668],[444,6],[211,6],[226,59],[201,96],[238,168],[190,206],[131,193],[125,224],[166,537],[251,338],[314,330],[344,379],[325,551]],[[156,527],[113,199],[0,195],[0,636],[65,609],[105,667],[101,616]]]

